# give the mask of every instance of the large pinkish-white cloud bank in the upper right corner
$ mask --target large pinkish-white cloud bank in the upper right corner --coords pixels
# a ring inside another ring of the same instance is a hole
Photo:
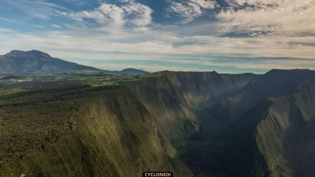
[[[230,8],[217,15],[221,32],[315,33],[315,0],[228,0],[228,3]]]

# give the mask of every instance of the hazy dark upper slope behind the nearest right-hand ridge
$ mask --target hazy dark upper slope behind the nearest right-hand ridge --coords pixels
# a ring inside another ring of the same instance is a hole
[[[236,119],[256,103],[269,97],[289,94],[306,79],[315,74],[311,70],[270,70],[252,80],[246,87],[209,111],[215,117]]]

